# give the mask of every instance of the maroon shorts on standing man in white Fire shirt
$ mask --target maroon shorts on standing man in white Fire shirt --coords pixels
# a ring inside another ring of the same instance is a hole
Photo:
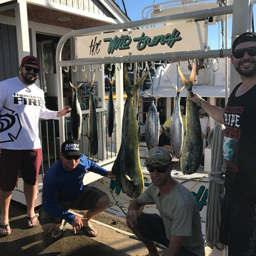
[[[17,187],[19,173],[25,183],[36,185],[40,165],[42,162],[42,150],[12,150],[1,149],[0,155],[0,189],[12,191]]]

